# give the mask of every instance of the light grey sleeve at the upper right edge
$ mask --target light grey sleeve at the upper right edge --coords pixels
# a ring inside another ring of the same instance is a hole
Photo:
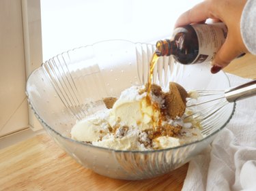
[[[242,39],[251,54],[256,55],[256,0],[248,0],[240,22]]]

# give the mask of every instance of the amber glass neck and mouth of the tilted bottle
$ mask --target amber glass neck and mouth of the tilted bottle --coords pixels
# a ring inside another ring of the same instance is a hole
[[[175,54],[175,50],[177,46],[174,41],[165,39],[156,42],[156,55],[158,56],[170,56]]]

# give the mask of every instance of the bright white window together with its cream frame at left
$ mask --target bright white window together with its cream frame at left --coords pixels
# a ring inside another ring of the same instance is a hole
[[[168,38],[177,16],[199,2],[0,1],[3,18],[0,24],[4,26],[0,36],[3,45],[0,58],[0,145],[3,145],[5,138],[19,140],[17,134],[7,135],[20,131],[24,134],[29,127],[33,127],[33,130],[40,127],[33,112],[27,109],[25,84],[31,71],[40,67],[42,60],[106,39],[154,43],[158,39]]]

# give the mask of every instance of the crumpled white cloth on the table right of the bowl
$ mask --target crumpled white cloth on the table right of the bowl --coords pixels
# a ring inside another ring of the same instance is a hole
[[[228,76],[231,86],[251,81]],[[229,124],[190,161],[186,190],[256,190],[256,96],[237,101]]]

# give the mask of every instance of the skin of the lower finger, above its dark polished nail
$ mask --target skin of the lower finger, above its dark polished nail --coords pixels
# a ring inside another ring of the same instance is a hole
[[[223,46],[221,46],[221,49],[216,53],[214,60],[212,60],[212,65],[222,69],[229,65],[229,63],[240,54],[242,54],[242,52],[238,50],[237,41],[233,41],[228,36]]]

